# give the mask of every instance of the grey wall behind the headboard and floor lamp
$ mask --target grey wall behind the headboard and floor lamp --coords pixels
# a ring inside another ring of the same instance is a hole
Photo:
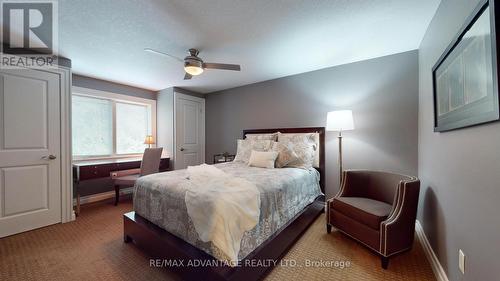
[[[411,51],[270,80],[206,96],[206,159],[236,151],[243,129],[325,126],[352,109],[346,168],[417,174],[418,53]],[[326,190],[338,189],[337,134],[326,135]]]

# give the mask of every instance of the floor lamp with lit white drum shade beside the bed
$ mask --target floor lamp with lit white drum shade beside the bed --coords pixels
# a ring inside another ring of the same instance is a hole
[[[326,130],[339,132],[339,183],[342,184],[342,131],[354,130],[354,121],[351,110],[337,110],[328,112]]]

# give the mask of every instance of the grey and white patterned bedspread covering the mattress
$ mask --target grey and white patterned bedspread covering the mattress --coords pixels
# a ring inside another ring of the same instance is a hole
[[[230,175],[254,183],[260,191],[259,222],[252,230],[245,232],[238,254],[239,260],[244,259],[322,194],[320,175],[314,168],[265,169],[237,162],[215,166]],[[187,213],[184,201],[186,190],[180,184],[186,178],[186,170],[139,178],[134,187],[134,211],[213,257],[227,260],[215,245],[199,239]]]

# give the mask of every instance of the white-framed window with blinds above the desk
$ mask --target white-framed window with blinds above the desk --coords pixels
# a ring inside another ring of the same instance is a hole
[[[74,87],[73,158],[135,156],[154,135],[156,102]]]

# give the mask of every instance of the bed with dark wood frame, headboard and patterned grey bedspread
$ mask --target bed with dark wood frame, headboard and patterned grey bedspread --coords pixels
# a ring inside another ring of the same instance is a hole
[[[145,176],[134,192],[134,211],[124,215],[124,240],[133,241],[152,258],[187,280],[259,280],[265,276],[324,209],[324,128],[245,130],[247,134],[307,133],[319,135],[316,168],[263,169],[244,163],[215,167],[255,183],[261,207],[257,226],[244,234],[239,266],[214,262],[226,256],[202,242],[193,227],[180,188],[186,170]],[[200,265],[203,266],[191,266]]]

